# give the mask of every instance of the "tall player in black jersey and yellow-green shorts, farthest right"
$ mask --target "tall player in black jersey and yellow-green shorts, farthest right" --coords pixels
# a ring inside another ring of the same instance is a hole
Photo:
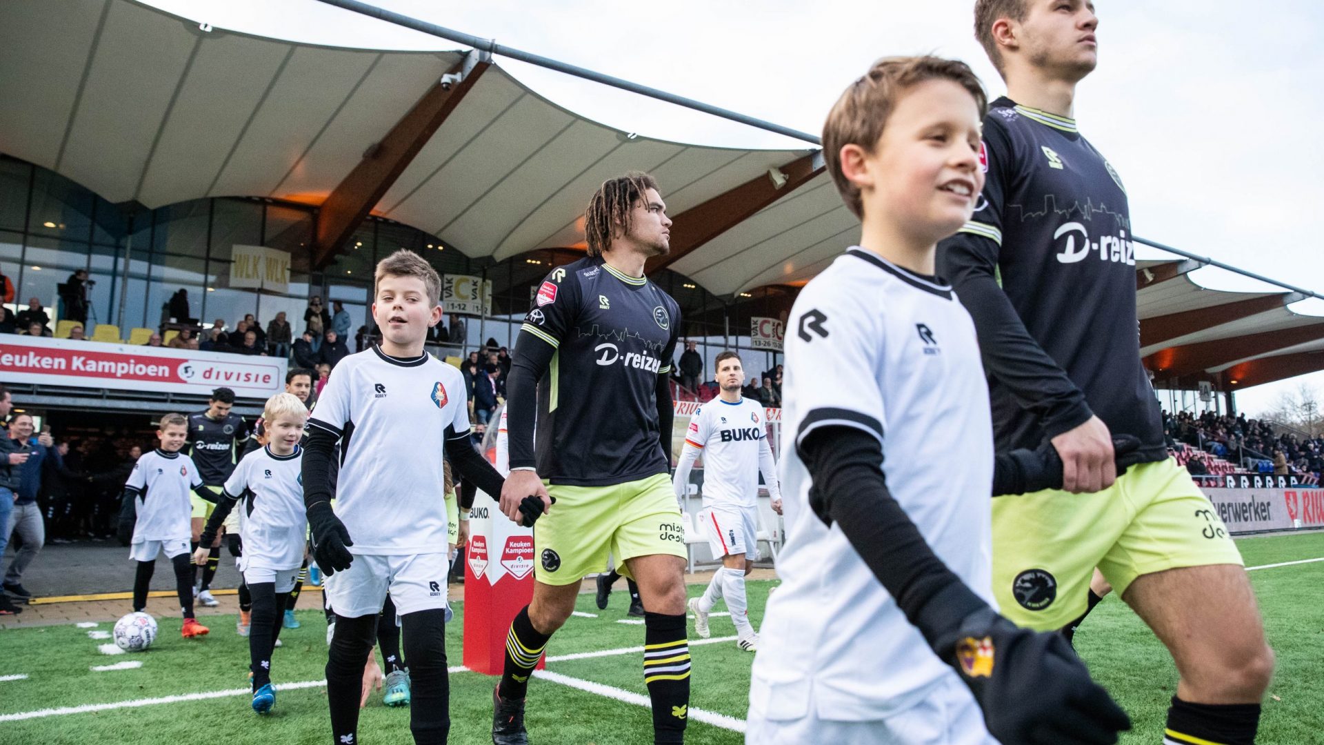
[[[939,260],[976,321],[996,447],[1047,441],[1064,464],[1063,490],[994,500],[993,589],[1014,622],[1063,628],[1098,567],[1177,663],[1168,741],[1239,745],[1255,738],[1274,655],[1241,554],[1164,447],[1125,187],[1072,118],[1098,24],[1083,0],[974,8],[1008,97],[984,121],[978,209]],[[1144,461],[1124,476],[1117,435]]]

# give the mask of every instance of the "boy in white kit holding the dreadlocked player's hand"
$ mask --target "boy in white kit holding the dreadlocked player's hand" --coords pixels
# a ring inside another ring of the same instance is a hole
[[[445,742],[450,732],[442,457],[487,493],[499,494],[503,480],[469,443],[459,370],[424,351],[440,297],[441,277],[421,256],[383,258],[372,304],[381,345],[340,361],[308,419],[303,498],[336,614],[326,667],[335,742],[357,742],[364,667],[388,591],[409,660],[409,729],[416,742]]]

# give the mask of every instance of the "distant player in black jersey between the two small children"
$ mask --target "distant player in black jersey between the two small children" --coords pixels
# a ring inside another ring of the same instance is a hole
[[[207,487],[201,494],[193,497],[193,542],[197,544],[203,534],[203,524],[212,516],[216,500],[220,498],[225,480],[234,471],[234,464],[244,453],[244,440],[249,437],[248,424],[238,414],[232,414],[234,406],[234,391],[229,388],[216,388],[207,403],[207,411],[199,411],[188,416],[188,444],[189,457],[197,464],[203,475],[203,484]],[[230,533],[238,533],[238,516],[225,526]],[[217,533],[214,545],[208,546],[207,561],[203,562],[203,579],[197,579],[197,565],[193,569],[193,583],[197,586],[197,601],[213,608],[220,602],[212,597],[212,579],[216,578],[216,567],[221,561],[221,534]],[[193,546],[193,551],[197,546]]]

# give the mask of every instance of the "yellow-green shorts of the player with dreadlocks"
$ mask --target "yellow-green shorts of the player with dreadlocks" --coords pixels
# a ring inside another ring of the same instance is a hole
[[[612,487],[548,485],[552,510],[534,525],[534,577],[571,585],[606,570],[630,577],[626,559],[654,554],[686,558],[685,526],[666,473]]]

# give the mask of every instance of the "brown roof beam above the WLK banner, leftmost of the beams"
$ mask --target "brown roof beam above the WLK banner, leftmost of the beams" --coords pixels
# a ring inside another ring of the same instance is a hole
[[[322,269],[331,262],[368,212],[385,196],[405,167],[432,139],[446,117],[465,98],[491,62],[482,52],[470,52],[413,105],[380,142],[363,154],[363,160],[322,203],[316,236],[312,243],[312,266]]]

